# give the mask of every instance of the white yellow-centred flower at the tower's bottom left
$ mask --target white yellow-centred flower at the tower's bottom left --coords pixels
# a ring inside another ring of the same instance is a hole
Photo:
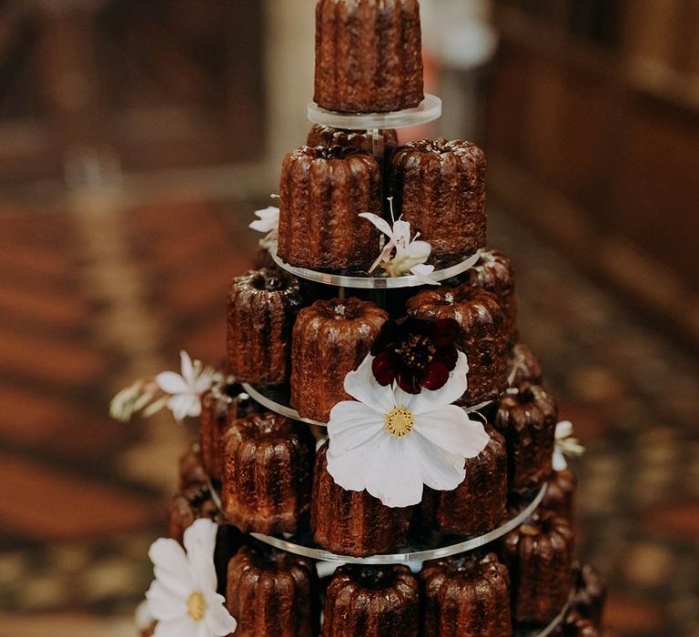
[[[213,521],[195,521],[185,531],[187,553],[177,541],[163,538],[150,547],[156,579],[146,599],[157,620],[154,637],[225,637],[236,630],[236,620],[216,591],[217,529]]]

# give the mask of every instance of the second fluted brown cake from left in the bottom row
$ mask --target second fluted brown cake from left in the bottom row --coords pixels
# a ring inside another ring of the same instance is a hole
[[[340,566],[323,617],[323,637],[418,637],[420,586],[407,566]]]

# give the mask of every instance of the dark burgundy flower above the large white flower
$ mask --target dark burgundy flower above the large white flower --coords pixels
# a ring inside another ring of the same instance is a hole
[[[454,319],[387,321],[371,346],[374,377],[383,386],[395,380],[410,394],[444,387],[456,367],[460,332]]]

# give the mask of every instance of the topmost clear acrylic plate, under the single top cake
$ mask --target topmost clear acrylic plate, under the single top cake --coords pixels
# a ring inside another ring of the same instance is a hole
[[[309,120],[320,126],[345,128],[346,130],[372,130],[385,128],[407,128],[428,124],[441,117],[441,99],[433,95],[425,98],[415,108],[406,108],[390,113],[337,113],[309,102]]]

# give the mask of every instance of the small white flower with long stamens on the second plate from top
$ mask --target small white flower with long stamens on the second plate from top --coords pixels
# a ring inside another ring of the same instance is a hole
[[[425,264],[425,261],[430,258],[432,247],[427,241],[418,241],[420,233],[410,239],[410,222],[399,218],[398,221],[393,222],[391,227],[388,221],[371,212],[362,212],[360,217],[369,219],[375,227],[378,227],[389,238],[388,243],[381,250],[379,258],[371,266],[370,272],[382,265],[391,277],[400,277],[410,272],[419,278],[422,283],[434,286],[440,285],[431,278],[434,266]],[[394,250],[395,255],[391,256]]]

